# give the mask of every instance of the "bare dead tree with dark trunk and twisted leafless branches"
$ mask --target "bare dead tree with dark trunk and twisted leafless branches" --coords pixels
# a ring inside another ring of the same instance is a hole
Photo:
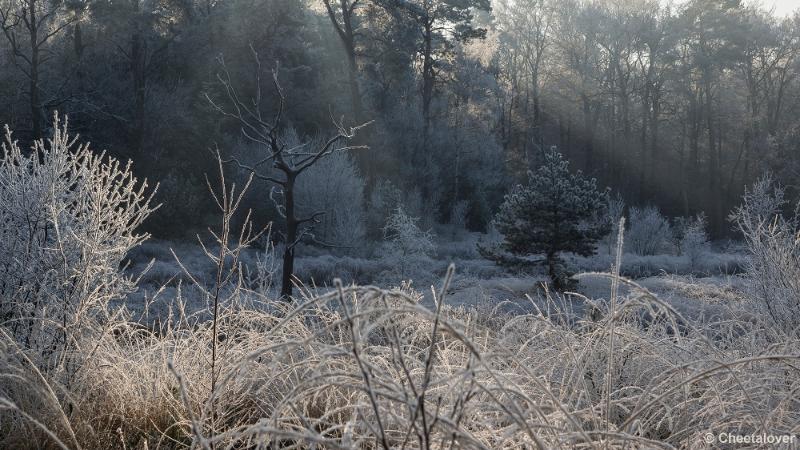
[[[252,48],[251,48],[252,50]],[[324,141],[318,148],[307,148],[309,143],[289,147],[281,138],[283,129],[283,114],[286,107],[286,97],[278,82],[278,67],[272,70],[272,84],[277,94],[278,110],[271,120],[265,119],[262,115],[260,105],[262,104],[261,93],[261,62],[258,54],[253,50],[256,62],[256,92],[255,96],[249,101],[243,101],[237,89],[233,86],[230,73],[224,61],[220,60],[222,72],[217,75],[218,80],[227,94],[228,107],[223,107],[215,102],[210,96],[206,98],[217,111],[226,117],[230,117],[239,122],[242,135],[249,141],[263,149],[262,158],[256,163],[249,165],[243,163],[235,156],[226,159],[227,163],[234,163],[244,169],[257,179],[272,183],[274,186],[270,190],[270,199],[275,204],[278,214],[284,219],[283,235],[283,271],[281,274],[281,297],[289,299],[292,295],[292,277],[294,275],[294,250],[305,237],[313,237],[311,231],[314,224],[319,222],[319,217],[324,211],[319,211],[307,217],[298,217],[295,199],[295,183],[297,178],[309,167],[316,164],[322,158],[337,151],[347,151],[365,146],[342,146],[342,141],[347,141],[355,136],[355,133],[368,125],[365,123],[357,127],[345,128],[342,121],[332,120],[336,127],[334,136]],[[273,170],[270,172],[269,167]],[[277,171],[277,175],[275,172]]]

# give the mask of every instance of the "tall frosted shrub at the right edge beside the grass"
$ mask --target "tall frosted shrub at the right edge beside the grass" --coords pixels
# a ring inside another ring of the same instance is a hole
[[[750,297],[779,329],[800,327],[800,233],[798,217],[785,217],[784,191],[769,176],[745,190],[730,220],[744,236],[750,258]]]

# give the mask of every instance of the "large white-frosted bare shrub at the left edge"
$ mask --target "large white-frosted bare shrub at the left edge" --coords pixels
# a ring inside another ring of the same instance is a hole
[[[130,165],[76,146],[66,120],[53,130],[23,152],[6,127],[0,161],[0,314],[45,355],[133,289],[121,263],[148,237],[135,230],[154,209]]]

